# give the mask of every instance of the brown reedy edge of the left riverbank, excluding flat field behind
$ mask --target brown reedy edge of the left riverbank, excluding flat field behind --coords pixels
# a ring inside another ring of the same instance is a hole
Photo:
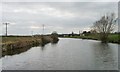
[[[59,39],[58,37],[53,38],[52,36],[40,36],[40,37],[31,37],[29,40],[21,40],[16,42],[2,43],[2,52],[7,52],[10,50],[16,50],[25,47],[34,47],[34,46],[44,46],[47,43],[55,43]]]

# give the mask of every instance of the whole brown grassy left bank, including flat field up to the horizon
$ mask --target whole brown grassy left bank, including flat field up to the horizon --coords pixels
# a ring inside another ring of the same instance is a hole
[[[20,48],[30,48],[38,45],[43,46],[54,41],[58,41],[58,38],[56,37],[55,40],[52,36],[9,36],[2,37],[2,42],[0,42],[0,45],[2,46],[2,51],[6,52]]]

